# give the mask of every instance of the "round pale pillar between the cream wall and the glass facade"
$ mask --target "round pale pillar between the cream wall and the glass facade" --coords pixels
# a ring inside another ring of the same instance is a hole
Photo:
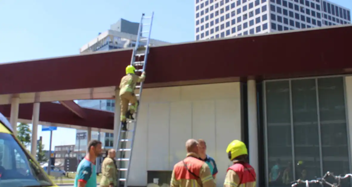
[[[247,81],[248,99],[248,139],[249,139],[249,163],[260,176],[258,170],[258,125],[257,125],[257,90],[256,81]],[[257,178],[258,184],[258,178]]]

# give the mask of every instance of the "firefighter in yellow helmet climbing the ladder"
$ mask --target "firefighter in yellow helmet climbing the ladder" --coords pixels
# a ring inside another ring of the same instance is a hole
[[[137,110],[138,100],[134,94],[136,84],[145,80],[145,71],[142,72],[141,76],[136,75],[136,68],[133,65],[126,67],[126,75],[122,77],[120,82],[120,120],[122,130],[127,130],[126,119],[134,119],[133,113]],[[128,110],[128,103],[131,103],[130,109]]]

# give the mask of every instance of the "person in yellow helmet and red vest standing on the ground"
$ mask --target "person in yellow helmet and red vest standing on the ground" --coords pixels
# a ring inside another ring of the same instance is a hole
[[[255,187],[256,172],[248,163],[248,151],[246,145],[239,140],[233,140],[226,149],[228,158],[233,165],[227,169],[224,187]]]

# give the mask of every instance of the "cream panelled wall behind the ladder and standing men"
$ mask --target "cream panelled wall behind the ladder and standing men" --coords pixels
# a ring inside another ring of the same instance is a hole
[[[145,186],[147,171],[172,170],[186,157],[189,138],[206,141],[222,186],[231,164],[226,147],[241,138],[240,83],[145,89],[128,185]]]

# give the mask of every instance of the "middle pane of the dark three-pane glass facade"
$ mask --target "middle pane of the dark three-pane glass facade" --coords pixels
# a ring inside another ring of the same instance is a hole
[[[296,179],[320,176],[315,79],[291,81]]]

